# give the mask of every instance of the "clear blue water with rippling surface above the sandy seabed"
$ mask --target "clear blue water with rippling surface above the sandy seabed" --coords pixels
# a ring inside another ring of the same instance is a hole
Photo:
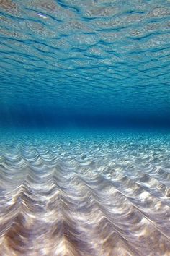
[[[169,125],[169,5],[1,1],[1,123]]]

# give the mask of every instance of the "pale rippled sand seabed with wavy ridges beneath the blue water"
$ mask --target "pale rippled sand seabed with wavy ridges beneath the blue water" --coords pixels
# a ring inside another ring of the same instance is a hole
[[[170,255],[169,141],[1,139],[0,255]]]

